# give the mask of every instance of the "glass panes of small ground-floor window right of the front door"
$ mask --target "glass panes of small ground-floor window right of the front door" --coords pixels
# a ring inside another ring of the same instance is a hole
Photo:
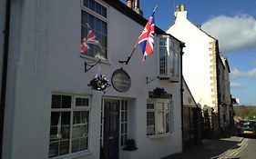
[[[167,133],[169,133],[169,100],[151,100],[147,104],[147,135]]]

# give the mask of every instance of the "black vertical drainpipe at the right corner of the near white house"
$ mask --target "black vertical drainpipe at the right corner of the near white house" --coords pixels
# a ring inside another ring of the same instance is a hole
[[[184,152],[184,132],[183,132],[183,73],[182,73],[182,55],[184,54],[183,52],[183,47],[185,47],[185,44],[180,44],[180,103],[181,103],[181,139],[182,139],[182,152]]]

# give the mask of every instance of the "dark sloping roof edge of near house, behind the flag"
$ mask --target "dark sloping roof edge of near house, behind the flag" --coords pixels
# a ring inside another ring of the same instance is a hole
[[[127,15],[130,19],[134,20],[139,25],[145,26],[148,23],[148,19],[145,19],[143,16],[138,15],[137,12],[135,12],[133,9],[129,8],[127,5],[122,3],[120,0],[103,0],[103,1],[106,2],[108,5],[111,5],[112,7],[117,9],[121,14]],[[160,29],[157,25],[156,25],[155,31],[156,31],[157,35],[169,35],[165,31]],[[185,43],[181,42],[179,39],[177,39],[176,37],[174,37],[173,35],[169,35],[169,36],[178,40],[181,44],[183,44],[183,45],[185,44]]]

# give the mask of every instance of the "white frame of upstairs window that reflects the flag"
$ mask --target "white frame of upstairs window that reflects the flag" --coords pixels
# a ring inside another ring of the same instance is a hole
[[[107,38],[106,38],[106,57],[104,57],[104,58],[98,58],[98,57],[95,57],[95,56],[91,56],[91,55],[85,55],[85,54],[80,54],[80,56],[82,57],[82,58],[87,58],[87,59],[89,59],[89,60],[93,60],[93,61],[95,61],[95,60],[98,60],[98,59],[100,59],[101,60],[101,62],[108,62],[108,5],[106,5],[106,4],[104,4],[104,3],[102,3],[102,2],[99,2],[99,1],[97,1],[97,0],[94,0],[95,2],[97,2],[97,4],[99,4],[99,5],[101,5],[101,6],[103,6],[103,7],[105,7],[106,8],[106,17],[104,16],[104,15],[100,15],[100,14],[98,14],[96,11],[94,11],[94,10],[92,10],[92,9],[90,9],[89,7],[87,7],[86,5],[84,5],[84,0],[81,0],[81,19],[82,19],[82,12],[84,11],[84,12],[86,12],[87,14],[89,14],[89,15],[93,15],[94,17],[96,17],[97,19],[99,19],[99,20],[101,20],[101,21],[103,21],[103,22],[105,22],[106,23],[106,25],[107,25],[107,33],[106,33],[106,36],[107,36]],[[82,24],[82,20],[81,20],[81,40],[82,40],[82,26],[84,26],[83,24]],[[92,30],[94,30],[95,31],[95,28],[93,28]],[[102,33],[100,33],[100,34],[102,34]],[[97,38],[96,38],[97,39]],[[98,39],[97,39],[98,40]]]

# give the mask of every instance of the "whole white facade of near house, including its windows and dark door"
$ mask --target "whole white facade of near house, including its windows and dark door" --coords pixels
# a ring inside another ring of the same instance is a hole
[[[119,63],[147,23],[119,1],[11,1],[10,22],[3,159],[182,151],[178,39],[157,28],[146,62],[136,49],[128,65]],[[89,30],[100,46],[80,54]],[[106,93],[87,85],[95,75],[107,76]]]

